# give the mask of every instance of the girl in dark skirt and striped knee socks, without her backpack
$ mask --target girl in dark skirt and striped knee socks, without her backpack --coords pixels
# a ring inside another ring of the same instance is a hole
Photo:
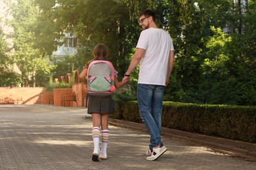
[[[95,46],[93,52],[93,60],[108,60],[108,48],[104,44],[98,44]],[[85,76],[87,76],[87,66],[83,68],[83,71],[79,75],[79,78],[85,82]],[[117,71],[115,70],[115,80],[114,85],[116,88],[121,88],[123,85],[129,82],[129,78],[123,82],[117,80]],[[114,112],[112,94],[103,95],[89,95],[88,103],[88,114],[92,115],[93,118],[93,161],[107,160],[106,148],[108,146],[108,137],[110,135],[108,130],[108,117],[110,113]],[[100,150],[100,132],[102,137],[102,147]]]

